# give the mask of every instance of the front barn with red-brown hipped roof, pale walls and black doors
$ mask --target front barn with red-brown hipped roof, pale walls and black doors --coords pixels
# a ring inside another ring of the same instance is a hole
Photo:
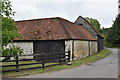
[[[16,21],[18,33],[14,40],[24,54],[71,51],[71,59],[84,58],[97,52],[97,40],[83,26],[60,17]]]

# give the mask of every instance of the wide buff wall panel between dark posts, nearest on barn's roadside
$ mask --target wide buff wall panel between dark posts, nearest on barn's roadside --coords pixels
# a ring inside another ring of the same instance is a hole
[[[74,41],[74,58],[84,58],[89,54],[88,41]]]

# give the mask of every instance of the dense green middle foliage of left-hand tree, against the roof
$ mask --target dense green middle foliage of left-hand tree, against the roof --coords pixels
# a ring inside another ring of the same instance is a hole
[[[17,33],[17,26],[13,19],[3,17],[2,19],[2,46],[7,46],[8,43],[21,35]]]

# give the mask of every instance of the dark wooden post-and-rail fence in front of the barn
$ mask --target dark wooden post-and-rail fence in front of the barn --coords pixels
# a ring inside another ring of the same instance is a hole
[[[60,55],[60,54],[63,54],[64,55]],[[67,54],[66,54],[67,53]],[[19,72],[21,70],[28,70],[28,69],[36,69],[36,68],[46,68],[46,67],[50,67],[50,66],[55,66],[55,65],[61,65],[61,64],[64,64],[66,62],[69,62],[70,61],[70,51],[68,52],[59,52],[58,55],[55,55],[56,53],[42,53],[42,54],[29,54],[29,55],[7,55],[7,56],[0,56],[0,57],[14,57],[15,59],[14,60],[9,60],[9,61],[0,61],[2,62],[3,64],[4,63],[11,63],[11,62],[14,62],[15,64],[14,65],[0,65],[1,68],[10,68],[10,67],[15,67],[15,69],[11,69],[11,70],[2,70],[1,72],[11,72],[11,71],[16,71],[16,72]],[[54,56],[55,55],[55,56]],[[21,56],[33,56],[33,59],[19,59],[19,57]],[[35,58],[34,56],[42,56],[41,57],[41,61],[35,61]],[[50,56],[53,58],[53,57],[56,57],[55,59],[52,59],[50,61],[48,61],[48,56],[50,58]],[[25,64],[20,64],[19,62],[20,61],[33,61],[33,63],[25,63]],[[55,62],[58,62],[57,64],[49,64],[49,65],[45,65],[47,63],[55,63]],[[27,66],[27,65],[36,65],[36,64],[41,64],[40,66],[37,66],[37,67],[27,67],[27,68],[22,68],[20,69],[20,66]]]

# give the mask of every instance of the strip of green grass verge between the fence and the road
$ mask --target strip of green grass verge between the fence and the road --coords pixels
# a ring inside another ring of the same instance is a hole
[[[57,71],[57,70],[62,70],[62,69],[68,69],[68,68],[74,68],[77,66],[80,66],[82,64],[87,64],[91,62],[95,62],[97,60],[100,60],[106,56],[108,56],[111,53],[108,49],[105,49],[99,53],[96,53],[92,56],[79,59],[79,60],[74,60],[72,61],[72,65],[58,65],[58,66],[53,66],[53,67],[48,67],[45,69],[31,69],[31,70],[24,70],[20,72],[8,72],[8,73],[3,73],[2,77],[17,77],[17,76],[25,76],[25,75],[32,75],[32,74],[38,74],[38,73],[45,73],[45,72],[52,72],[52,71]],[[31,67],[33,66],[40,66],[40,65],[30,65]],[[29,67],[30,67],[29,66]]]

